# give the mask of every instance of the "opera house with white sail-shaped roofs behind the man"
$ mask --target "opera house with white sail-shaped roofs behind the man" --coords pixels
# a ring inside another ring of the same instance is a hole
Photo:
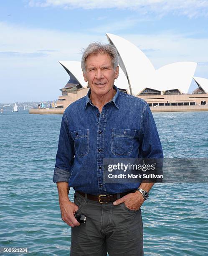
[[[147,56],[126,39],[107,33],[109,44],[119,54],[119,77],[115,85],[120,91],[144,99],[152,111],[208,110],[208,79],[195,77],[195,62],[176,62],[155,69]],[[89,90],[79,61],[59,61],[69,75],[56,102],[57,110],[85,96]],[[196,88],[188,92],[195,81]]]

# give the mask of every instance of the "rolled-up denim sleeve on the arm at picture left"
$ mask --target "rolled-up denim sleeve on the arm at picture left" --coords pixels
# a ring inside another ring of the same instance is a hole
[[[68,128],[65,112],[61,120],[61,129],[56,154],[56,164],[53,172],[53,182],[68,182],[71,168],[74,164],[74,141]]]

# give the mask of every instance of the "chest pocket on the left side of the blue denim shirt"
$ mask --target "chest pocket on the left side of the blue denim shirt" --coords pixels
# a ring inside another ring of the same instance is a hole
[[[89,153],[89,129],[71,132],[71,137],[76,156],[86,156]]]

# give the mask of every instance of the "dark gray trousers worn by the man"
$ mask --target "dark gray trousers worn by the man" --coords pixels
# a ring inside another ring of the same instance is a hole
[[[71,228],[71,256],[142,256],[143,224],[141,209],[129,210],[124,203],[100,204],[74,194],[77,214],[86,223]]]

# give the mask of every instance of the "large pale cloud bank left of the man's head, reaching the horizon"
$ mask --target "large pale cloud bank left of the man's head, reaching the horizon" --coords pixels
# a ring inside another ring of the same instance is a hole
[[[0,102],[57,99],[68,81],[58,61],[79,61],[82,47],[93,40],[106,41],[105,34],[97,38],[8,23],[0,23],[0,31]]]

